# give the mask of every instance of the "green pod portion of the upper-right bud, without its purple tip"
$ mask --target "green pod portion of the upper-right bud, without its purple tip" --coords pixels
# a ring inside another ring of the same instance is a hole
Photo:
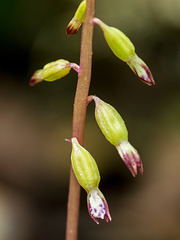
[[[127,62],[129,58],[135,55],[134,45],[123,32],[117,28],[106,25],[98,18],[94,18],[93,23],[100,26],[107,44],[118,58]]]

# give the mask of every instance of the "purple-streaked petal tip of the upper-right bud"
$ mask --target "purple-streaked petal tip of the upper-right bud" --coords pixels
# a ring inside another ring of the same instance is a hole
[[[155,85],[155,81],[148,66],[136,54],[127,61],[127,64],[144,83],[149,86]]]

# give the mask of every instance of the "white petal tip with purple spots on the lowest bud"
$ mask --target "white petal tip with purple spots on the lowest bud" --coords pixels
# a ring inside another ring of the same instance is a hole
[[[108,204],[99,188],[94,188],[88,192],[87,204],[89,215],[95,223],[99,224],[97,218],[104,219],[106,222],[112,221]]]

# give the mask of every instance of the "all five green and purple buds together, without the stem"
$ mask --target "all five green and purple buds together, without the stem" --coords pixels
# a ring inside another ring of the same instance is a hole
[[[66,28],[69,36],[75,34],[84,21],[86,0],[83,0],[75,12],[74,17]],[[112,52],[132,69],[132,71],[146,84],[155,84],[151,71],[146,63],[138,57],[131,40],[119,29],[110,27],[98,18],[91,19],[91,24],[97,24],[103,31],[104,38]],[[52,82],[66,76],[74,69],[78,74],[81,69],[76,63],[64,59],[46,64],[42,69],[35,71],[30,79],[33,86],[41,81]],[[137,150],[128,141],[128,131],[124,120],[114,107],[102,101],[97,96],[89,96],[87,103],[95,102],[95,119],[105,138],[115,146],[121,159],[131,174],[135,177],[138,170],[143,174],[143,165]],[[100,174],[96,161],[92,155],[82,147],[78,139],[73,137],[71,164],[77,181],[87,192],[87,207],[91,218],[99,224],[98,218],[106,222],[111,221],[108,204],[99,190]]]

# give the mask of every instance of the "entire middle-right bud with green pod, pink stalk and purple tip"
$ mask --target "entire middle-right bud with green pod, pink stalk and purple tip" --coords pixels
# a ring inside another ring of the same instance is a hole
[[[143,174],[143,166],[136,149],[128,142],[126,125],[114,107],[96,96],[89,96],[88,101],[95,101],[95,118],[105,138],[113,144],[132,175],[137,175],[137,168]]]

